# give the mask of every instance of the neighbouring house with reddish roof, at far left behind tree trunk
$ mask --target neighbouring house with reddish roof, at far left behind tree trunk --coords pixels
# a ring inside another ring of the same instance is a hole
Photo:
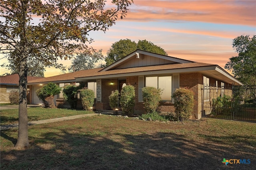
[[[43,77],[33,77],[28,76],[28,81],[41,79]],[[10,103],[9,94],[12,90],[18,90],[19,87],[19,75],[12,74],[6,76],[0,76],[0,103]],[[27,90],[27,94],[29,94],[29,87]],[[28,95],[29,99],[29,95]]]

